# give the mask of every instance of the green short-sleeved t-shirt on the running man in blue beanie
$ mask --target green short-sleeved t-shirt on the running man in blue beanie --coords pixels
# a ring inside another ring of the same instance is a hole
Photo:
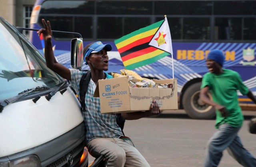
[[[241,76],[228,69],[223,69],[222,74],[204,74],[201,89],[208,86],[212,94],[213,101],[226,107],[227,117],[222,117],[220,111],[216,109],[216,124],[228,123],[233,127],[242,127],[244,116],[238,104],[237,90],[243,95],[247,95],[249,89],[242,82]]]

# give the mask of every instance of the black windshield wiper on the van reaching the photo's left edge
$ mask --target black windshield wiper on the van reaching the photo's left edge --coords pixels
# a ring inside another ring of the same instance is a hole
[[[32,92],[32,91],[38,91],[38,90],[45,90],[45,89],[50,89],[49,87],[45,87],[45,86],[37,86],[34,88],[30,88],[30,89],[26,89],[20,93],[18,93],[18,95],[11,97],[9,99],[5,99],[2,103],[0,103],[0,113],[2,113],[4,107],[10,103],[13,103],[14,101],[17,101],[18,99],[20,99],[21,97],[23,97],[24,95],[27,95],[28,93]]]

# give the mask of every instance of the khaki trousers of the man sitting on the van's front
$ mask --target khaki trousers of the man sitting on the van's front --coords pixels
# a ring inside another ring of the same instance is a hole
[[[93,157],[104,155],[108,167],[150,167],[146,159],[129,142],[119,138],[98,137],[88,142]]]

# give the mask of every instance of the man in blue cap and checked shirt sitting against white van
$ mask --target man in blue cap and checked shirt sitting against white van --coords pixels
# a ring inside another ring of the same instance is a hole
[[[71,81],[72,87],[79,94],[79,83],[85,72],[68,69],[59,64],[52,50],[52,32],[50,22],[47,24],[42,19],[44,29],[38,31],[38,35],[43,34],[45,41],[44,56],[48,68],[58,73],[66,80]],[[100,99],[93,97],[98,80],[112,78],[104,72],[108,70],[108,54],[112,50],[110,44],[94,42],[84,48],[84,62],[89,65],[91,78],[85,97],[86,112],[84,119],[86,122],[86,147],[93,157],[104,155],[107,159],[108,167],[150,167],[146,159],[134,147],[130,138],[122,135],[121,128],[117,125],[116,114],[101,114]],[[122,113],[126,120],[140,119],[151,115],[159,114],[161,111],[155,100],[148,106],[145,112]]]

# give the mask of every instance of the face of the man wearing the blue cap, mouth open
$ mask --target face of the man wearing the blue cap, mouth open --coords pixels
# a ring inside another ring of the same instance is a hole
[[[100,52],[92,53],[89,56],[90,64],[95,70],[108,70],[108,54],[105,49]]]

